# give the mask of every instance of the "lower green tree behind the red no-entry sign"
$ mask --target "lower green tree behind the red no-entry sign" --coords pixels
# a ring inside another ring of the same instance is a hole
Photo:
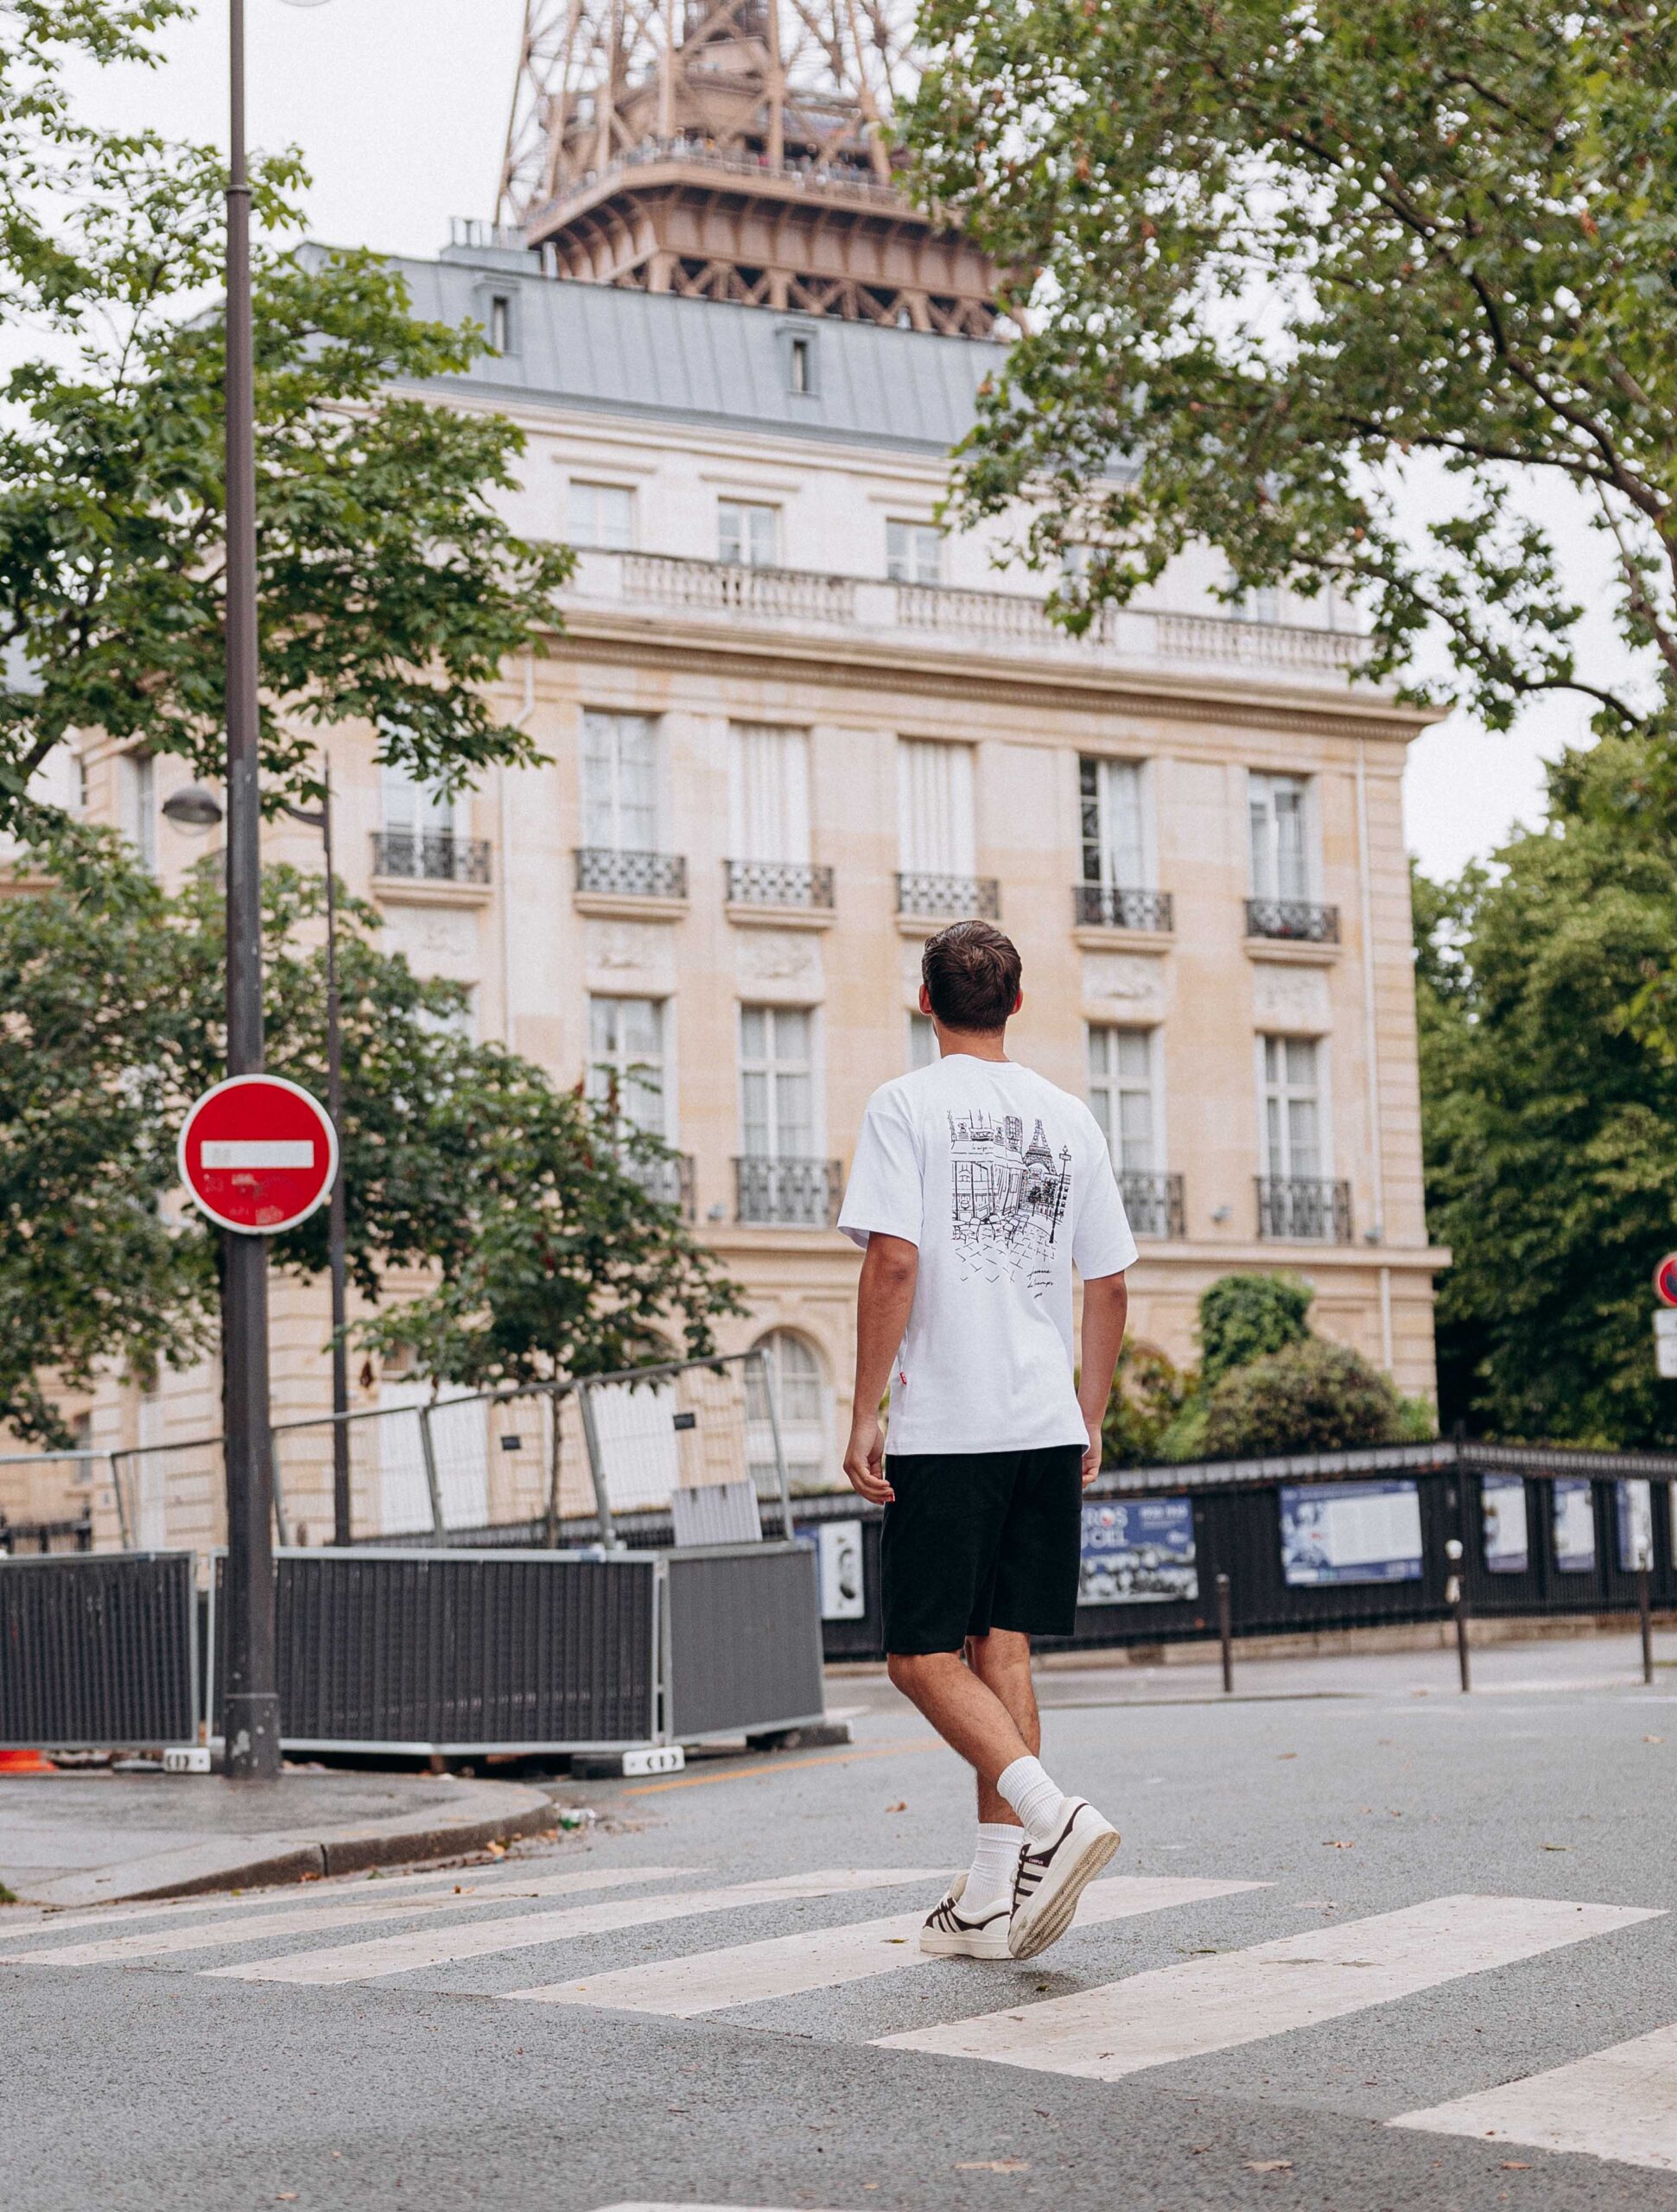
[[[150,1374],[215,1343],[219,1239],[175,1194],[175,1130],[223,1064],[223,909],[204,872],[168,896],[115,838],[55,856],[53,889],[0,896],[0,1422],[64,1442],[53,1389],[104,1360]],[[265,876],[268,1066],[325,1091],[325,885]],[[365,1329],[454,1383],[588,1374],[712,1349],[739,1294],[673,1206],[668,1161],[580,1091],[460,1031],[462,991],[423,982],[341,907],[350,1272],[431,1287]],[[272,1241],[325,1267],[325,1210]]]

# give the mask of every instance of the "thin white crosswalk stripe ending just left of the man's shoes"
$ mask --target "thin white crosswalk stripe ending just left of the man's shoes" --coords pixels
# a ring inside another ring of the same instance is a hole
[[[577,1905],[562,1913],[515,1913],[504,1920],[378,1936],[372,1942],[338,1944],[325,1951],[290,1951],[281,1958],[254,1960],[248,1966],[212,1966],[210,1971],[230,1982],[308,1982],[325,1989],[341,1982],[374,1982],[389,1973],[416,1973],[420,1966],[451,1966],[456,1960],[489,1958],[498,1951],[535,1949],[573,1936],[606,1936],[615,1929],[653,1927],[659,1920],[688,1920],[695,1913],[726,1913],[741,1905],[838,1898],[865,1889],[936,1882],[938,1878],[936,1869],[925,1867],[779,1874],[765,1882],[732,1882],[726,1889],[690,1889],[666,1898],[613,1898],[608,1905]]]

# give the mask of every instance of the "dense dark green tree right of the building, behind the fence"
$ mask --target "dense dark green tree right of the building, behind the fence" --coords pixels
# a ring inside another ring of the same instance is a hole
[[[1677,1444],[1655,1261],[1677,1243],[1677,838],[1657,743],[1549,776],[1549,818],[1456,885],[1416,885],[1427,1221],[1445,1420],[1504,1438]]]

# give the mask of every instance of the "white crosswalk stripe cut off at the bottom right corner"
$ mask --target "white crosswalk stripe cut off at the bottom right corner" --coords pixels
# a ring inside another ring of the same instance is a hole
[[[1425,2112],[1400,2112],[1387,2126],[1677,2172],[1677,2026]]]

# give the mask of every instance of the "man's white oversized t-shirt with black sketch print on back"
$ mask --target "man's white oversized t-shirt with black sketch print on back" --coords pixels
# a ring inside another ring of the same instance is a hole
[[[951,1053],[867,1102],[838,1228],[920,1248],[892,1369],[892,1451],[1084,1444],[1071,1270],[1122,1274],[1135,1239],[1082,1099],[1015,1060]]]

